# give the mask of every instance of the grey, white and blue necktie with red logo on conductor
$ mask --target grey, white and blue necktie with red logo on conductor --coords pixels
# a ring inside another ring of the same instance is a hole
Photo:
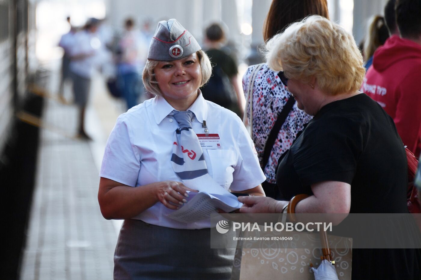
[[[176,129],[177,139],[173,143],[171,156],[171,163],[177,176],[183,181],[201,176],[212,179],[208,174],[199,139],[192,129],[193,112],[173,110],[171,114],[180,127]]]

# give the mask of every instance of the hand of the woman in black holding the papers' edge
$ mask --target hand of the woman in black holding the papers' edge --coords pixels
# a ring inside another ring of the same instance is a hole
[[[280,213],[288,201],[277,201],[265,196],[240,196],[240,213]]]

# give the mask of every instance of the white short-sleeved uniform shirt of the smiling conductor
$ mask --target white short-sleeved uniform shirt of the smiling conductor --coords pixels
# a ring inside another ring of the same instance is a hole
[[[174,108],[160,96],[146,100],[118,117],[108,138],[99,176],[131,187],[172,180],[171,155],[176,129]],[[203,134],[203,120],[209,133],[218,133],[222,149],[204,149],[208,172],[222,188],[242,191],[254,188],[266,178],[261,171],[253,141],[241,119],[233,112],[206,101],[200,93],[188,109],[195,114],[192,128]],[[166,217],[171,213],[158,202],[133,217],[163,227],[200,229],[210,227],[210,219],[184,224]]]

